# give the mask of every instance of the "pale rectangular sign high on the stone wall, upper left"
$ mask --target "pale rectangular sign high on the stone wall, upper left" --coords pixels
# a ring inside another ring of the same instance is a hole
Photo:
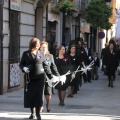
[[[10,0],[10,9],[21,11],[21,0]]]

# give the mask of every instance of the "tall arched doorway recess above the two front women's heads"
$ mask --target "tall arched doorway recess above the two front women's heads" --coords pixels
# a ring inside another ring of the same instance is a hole
[[[36,0],[35,7],[35,37],[41,41],[46,41],[46,29],[47,29],[47,5],[50,0]]]

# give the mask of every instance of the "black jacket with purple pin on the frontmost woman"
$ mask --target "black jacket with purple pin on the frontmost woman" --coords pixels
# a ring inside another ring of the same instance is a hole
[[[22,71],[24,67],[30,67],[30,79],[44,79],[45,73],[49,79],[52,78],[52,72],[45,61],[45,56],[43,52],[39,50],[37,56],[33,55],[30,50],[23,53],[20,62],[20,68]]]

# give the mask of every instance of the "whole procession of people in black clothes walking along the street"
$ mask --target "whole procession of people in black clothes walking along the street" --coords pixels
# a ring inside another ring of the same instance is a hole
[[[50,112],[50,99],[53,89],[46,82],[52,80],[53,75],[62,76],[69,70],[71,74],[66,75],[64,83],[59,82],[55,89],[58,93],[58,105],[65,105],[66,89],[69,89],[67,97],[73,97],[84,83],[92,83],[93,80],[98,80],[98,68],[100,67],[100,59],[96,51],[91,51],[87,48],[86,41],[77,41],[77,44],[70,44],[66,51],[65,46],[57,47],[57,42],[54,41],[51,47],[48,47],[47,42],[40,42],[37,38],[32,38],[29,43],[29,50],[23,52],[20,68],[25,73],[24,86],[24,107],[30,108],[31,115],[29,119],[41,120],[40,112],[43,111],[43,100],[45,96],[46,109]],[[108,87],[113,87],[115,80],[115,71],[118,66],[118,53],[115,50],[115,42],[109,42],[109,45],[102,50],[101,58],[103,60],[103,69],[108,75]],[[92,70],[87,70],[87,73],[75,72],[81,68],[85,68],[92,61],[94,65]],[[74,76],[74,77],[73,77]]]

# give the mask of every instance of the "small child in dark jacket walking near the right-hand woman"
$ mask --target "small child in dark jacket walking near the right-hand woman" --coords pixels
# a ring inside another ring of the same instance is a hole
[[[100,67],[100,59],[98,57],[98,54],[96,51],[94,51],[93,53],[93,60],[94,60],[94,79],[98,80],[99,76],[98,76],[98,68]]]

